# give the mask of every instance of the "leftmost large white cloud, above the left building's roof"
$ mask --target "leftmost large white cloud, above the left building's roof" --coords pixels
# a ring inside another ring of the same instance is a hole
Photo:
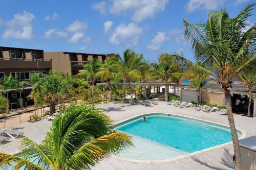
[[[14,14],[13,19],[6,22],[8,29],[2,35],[3,39],[17,38],[30,39],[33,37],[33,27],[31,25],[35,16],[32,13],[23,11],[22,14]]]

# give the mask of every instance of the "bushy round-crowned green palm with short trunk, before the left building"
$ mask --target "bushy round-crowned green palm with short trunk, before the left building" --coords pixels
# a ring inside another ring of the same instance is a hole
[[[49,103],[50,114],[56,111],[56,104],[70,97],[71,86],[61,73],[54,70],[33,86],[32,96],[35,102],[39,100]]]

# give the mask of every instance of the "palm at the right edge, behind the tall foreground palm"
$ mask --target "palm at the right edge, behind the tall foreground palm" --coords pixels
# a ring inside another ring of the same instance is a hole
[[[248,111],[247,116],[251,115],[251,99],[252,99],[252,87],[256,85],[256,63],[251,64],[246,69],[241,69],[239,72],[240,79],[245,83],[249,91],[249,104],[248,104]]]

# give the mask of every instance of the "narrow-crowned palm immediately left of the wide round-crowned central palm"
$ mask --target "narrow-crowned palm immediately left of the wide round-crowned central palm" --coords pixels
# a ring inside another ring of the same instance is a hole
[[[100,70],[97,72],[98,77],[101,78],[101,81],[106,81],[110,88],[110,102],[112,102],[112,86],[110,82],[115,78],[115,68],[113,67],[114,63],[117,62],[115,57],[112,57],[102,64]]]

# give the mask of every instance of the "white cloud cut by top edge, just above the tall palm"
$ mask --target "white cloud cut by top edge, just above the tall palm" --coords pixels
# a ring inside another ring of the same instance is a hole
[[[186,11],[216,10],[218,7],[222,7],[225,1],[226,0],[189,0],[186,4]]]

